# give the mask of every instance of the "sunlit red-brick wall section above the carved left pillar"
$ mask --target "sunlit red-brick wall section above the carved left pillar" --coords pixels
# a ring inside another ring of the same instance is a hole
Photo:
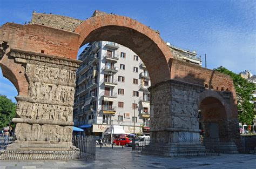
[[[9,48],[45,53],[59,57],[77,58],[79,35],[43,25],[6,23],[0,29],[0,39]]]

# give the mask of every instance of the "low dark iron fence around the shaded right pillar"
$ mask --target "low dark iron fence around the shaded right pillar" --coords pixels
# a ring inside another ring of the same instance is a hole
[[[133,139],[132,152],[156,156],[217,156],[238,153],[241,139],[180,138],[177,143],[151,144],[149,138]]]

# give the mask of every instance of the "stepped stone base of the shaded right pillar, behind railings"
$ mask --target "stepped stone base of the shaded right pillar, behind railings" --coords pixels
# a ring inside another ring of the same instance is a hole
[[[200,143],[171,143],[166,145],[151,144],[145,146],[142,150],[143,154],[178,157],[178,156],[205,156],[209,153],[205,146]]]

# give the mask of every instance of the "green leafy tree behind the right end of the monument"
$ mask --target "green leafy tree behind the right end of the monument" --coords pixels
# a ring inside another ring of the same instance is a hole
[[[253,92],[256,90],[254,83],[242,78],[240,75],[220,66],[218,72],[230,75],[233,79],[235,92],[237,94],[238,119],[242,124],[252,125],[254,119]]]

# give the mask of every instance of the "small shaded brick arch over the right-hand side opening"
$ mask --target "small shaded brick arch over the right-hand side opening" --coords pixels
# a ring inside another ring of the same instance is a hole
[[[213,90],[206,90],[199,94],[199,98],[198,98],[199,107],[201,106],[201,103],[203,101],[205,101],[206,99],[209,99],[209,98],[214,98],[215,101],[219,102],[219,104],[221,104],[224,107],[225,113],[226,113],[225,116],[227,119],[232,117],[230,105],[226,102],[226,100],[218,92],[213,91]],[[212,100],[214,100],[214,99],[212,99]],[[210,101],[210,99],[209,99],[209,101]]]

